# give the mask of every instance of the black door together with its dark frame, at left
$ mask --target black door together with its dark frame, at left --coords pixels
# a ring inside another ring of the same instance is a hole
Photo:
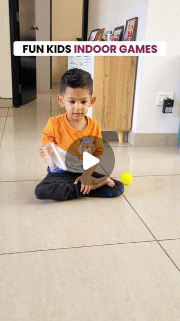
[[[14,41],[35,41],[35,0],[9,0],[12,103],[19,107],[36,99],[36,57],[13,55]]]

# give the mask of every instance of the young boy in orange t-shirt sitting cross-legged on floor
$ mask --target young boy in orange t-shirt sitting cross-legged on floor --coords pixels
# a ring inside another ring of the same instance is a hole
[[[123,193],[121,182],[94,172],[97,165],[86,171],[82,169],[83,151],[99,159],[103,153],[100,126],[86,116],[96,99],[92,96],[92,86],[90,74],[81,69],[69,69],[61,77],[57,100],[66,113],[48,119],[41,140],[42,144],[54,142],[61,156],[65,158],[68,154],[71,161],[65,170],[55,173],[47,168],[47,176],[35,188],[37,199],[64,201],[85,196],[116,197]],[[39,151],[46,162],[43,147]]]

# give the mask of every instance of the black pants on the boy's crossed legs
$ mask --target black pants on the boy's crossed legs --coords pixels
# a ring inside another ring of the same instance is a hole
[[[80,176],[79,173],[50,173],[35,188],[35,196],[39,200],[56,200],[66,201],[79,199],[81,197],[116,197],[123,193],[123,184],[113,180],[115,185],[110,187],[103,185],[95,190],[91,190],[89,194],[83,195],[80,192],[81,183],[74,185],[75,179]],[[93,172],[92,177],[100,178],[104,175]]]

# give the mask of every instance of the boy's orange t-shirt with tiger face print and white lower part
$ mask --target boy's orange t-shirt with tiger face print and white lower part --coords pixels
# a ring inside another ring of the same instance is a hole
[[[101,128],[94,119],[85,117],[87,126],[83,130],[72,127],[67,120],[66,113],[50,117],[41,135],[42,144],[53,141],[59,152],[66,153],[68,151],[74,157],[75,163],[79,158],[80,167],[82,167],[83,151],[100,156],[104,152]],[[79,171],[79,166],[77,167],[77,171]],[[76,171],[76,169],[74,168],[72,171]]]

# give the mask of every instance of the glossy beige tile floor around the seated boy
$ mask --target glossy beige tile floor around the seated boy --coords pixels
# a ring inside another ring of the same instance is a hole
[[[53,92],[0,108],[0,319],[179,321],[179,149],[104,133],[112,177],[134,176],[123,196],[40,201],[40,135],[61,112]]]

